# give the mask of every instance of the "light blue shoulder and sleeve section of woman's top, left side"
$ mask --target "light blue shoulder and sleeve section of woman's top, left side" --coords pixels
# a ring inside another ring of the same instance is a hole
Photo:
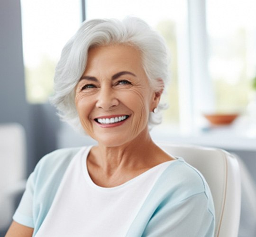
[[[62,177],[81,149],[65,148],[45,155],[27,179],[26,190],[21,198],[13,219],[21,225],[34,228],[34,233],[45,219],[54,200]]]

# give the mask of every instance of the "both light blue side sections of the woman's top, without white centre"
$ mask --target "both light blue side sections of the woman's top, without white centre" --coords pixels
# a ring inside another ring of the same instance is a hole
[[[70,161],[80,149],[60,149],[46,155],[29,176],[13,219],[34,228],[33,236],[51,207]],[[213,237],[214,225],[214,206],[207,183],[201,173],[178,158],[160,175],[126,236]]]

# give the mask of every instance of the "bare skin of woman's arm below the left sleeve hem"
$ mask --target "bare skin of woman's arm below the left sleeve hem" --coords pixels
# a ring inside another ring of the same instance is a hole
[[[13,221],[5,237],[32,237],[33,228],[20,225],[18,222]]]

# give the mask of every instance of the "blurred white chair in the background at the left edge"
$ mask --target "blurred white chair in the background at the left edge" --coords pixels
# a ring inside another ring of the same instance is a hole
[[[8,228],[15,199],[25,189],[26,142],[24,128],[0,124],[0,232]]]

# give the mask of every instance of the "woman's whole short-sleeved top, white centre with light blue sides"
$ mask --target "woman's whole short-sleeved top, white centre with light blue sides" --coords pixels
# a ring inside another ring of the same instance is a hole
[[[27,180],[13,219],[36,237],[213,237],[210,189],[182,158],[113,188],[91,181],[91,147],[56,150]]]

